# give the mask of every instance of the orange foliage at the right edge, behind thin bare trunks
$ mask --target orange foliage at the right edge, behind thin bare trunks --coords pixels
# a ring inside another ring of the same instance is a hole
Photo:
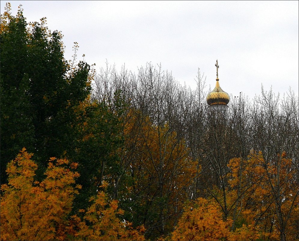
[[[239,219],[251,224],[255,221],[261,229],[262,239],[280,239],[280,231],[287,239],[297,236],[298,183],[293,178],[296,169],[291,166],[286,153],[266,161],[261,152],[252,152],[247,159],[234,158],[228,167],[230,203],[240,195]]]

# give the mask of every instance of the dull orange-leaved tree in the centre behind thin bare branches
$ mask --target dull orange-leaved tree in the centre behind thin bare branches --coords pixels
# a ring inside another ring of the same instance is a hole
[[[132,152],[134,160],[129,174],[134,179],[134,196],[144,196],[140,206],[145,207],[143,210],[149,215],[159,216],[148,218],[148,226],[160,227],[161,233],[169,232],[199,171],[197,162],[188,156],[185,140],[178,137],[168,123],[154,125],[148,116],[134,110],[130,110],[128,119],[124,128],[128,147],[125,153],[129,156]]]

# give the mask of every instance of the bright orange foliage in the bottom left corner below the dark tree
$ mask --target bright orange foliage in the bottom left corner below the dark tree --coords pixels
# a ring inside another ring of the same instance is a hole
[[[64,240],[79,174],[64,167],[68,160],[51,158],[44,181],[34,181],[37,165],[31,157],[23,148],[8,164],[9,182],[1,186],[1,240]]]

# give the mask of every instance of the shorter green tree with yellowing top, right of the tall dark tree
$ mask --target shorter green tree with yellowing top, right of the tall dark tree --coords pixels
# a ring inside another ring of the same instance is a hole
[[[79,163],[77,183],[82,190],[75,199],[75,208],[88,205],[103,181],[111,183],[119,167],[118,148],[123,145],[120,135],[121,120],[108,109],[105,102],[85,101],[75,110],[78,122],[73,126],[77,139],[69,146],[66,155]],[[113,190],[109,190],[111,194]]]

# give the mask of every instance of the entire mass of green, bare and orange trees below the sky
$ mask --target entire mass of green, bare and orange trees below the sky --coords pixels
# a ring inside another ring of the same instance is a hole
[[[200,72],[96,72],[9,3],[0,30],[1,240],[299,239],[292,91],[217,115]]]

